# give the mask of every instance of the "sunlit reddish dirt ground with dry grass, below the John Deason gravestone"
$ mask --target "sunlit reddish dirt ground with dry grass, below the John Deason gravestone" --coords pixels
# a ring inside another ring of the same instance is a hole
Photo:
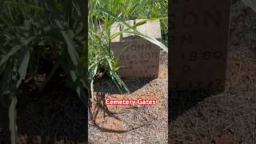
[[[94,122],[89,122],[90,143],[167,143],[168,130],[168,66],[167,54],[161,53],[159,78],[126,79],[126,85],[132,94],[120,92],[108,78],[102,78],[95,84],[95,91],[111,98],[155,98],[155,106],[108,106],[114,115],[105,120],[100,111]],[[95,93],[98,94],[98,93]]]

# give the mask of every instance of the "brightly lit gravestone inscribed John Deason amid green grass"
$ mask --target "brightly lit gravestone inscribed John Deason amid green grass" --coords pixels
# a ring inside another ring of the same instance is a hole
[[[130,26],[142,19],[130,20]],[[114,23],[111,34],[125,30],[126,26]],[[136,29],[151,38],[161,39],[160,22],[146,22]],[[118,74],[122,78],[158,78],[160,48],[134,34],[124,33],[112,40],[114,56],[118,58]]]

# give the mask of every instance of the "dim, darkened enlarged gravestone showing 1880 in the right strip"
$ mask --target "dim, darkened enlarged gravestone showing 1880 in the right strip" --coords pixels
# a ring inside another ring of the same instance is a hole
[[[170,4],[170,89],[225,90],[230,0]]]

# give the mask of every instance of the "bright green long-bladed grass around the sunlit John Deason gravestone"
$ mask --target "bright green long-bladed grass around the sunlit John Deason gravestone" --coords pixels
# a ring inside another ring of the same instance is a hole
[[[167,26],[167,0],[110,0],[110,1],[89,1],[89,78],[91,83],[91,91],[93,91],[94,77],[98,73],[108,74],[118,89],[122,93],[130,93],[126,84],[119,78],[118,59],[114,58],[111,49],[111,39],[118,34],[133,33],[146,40],[160,46],[163,50],[166,48]],[[129,26],[126,20],[146,19],[135,26]],[[162,42],[158,42],[154,38],[139,33],[136,26],[145,24],[147,21],[160,19],[162,30]],[[110,34],[110,27],[114,22],[127,26],[117,34]]]

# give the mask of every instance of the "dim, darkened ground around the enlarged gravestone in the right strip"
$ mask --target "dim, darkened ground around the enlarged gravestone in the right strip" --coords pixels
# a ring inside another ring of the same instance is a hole
[[[256,143],[256,12],[232,6],[226,91],[174,100],[169,143]]]

